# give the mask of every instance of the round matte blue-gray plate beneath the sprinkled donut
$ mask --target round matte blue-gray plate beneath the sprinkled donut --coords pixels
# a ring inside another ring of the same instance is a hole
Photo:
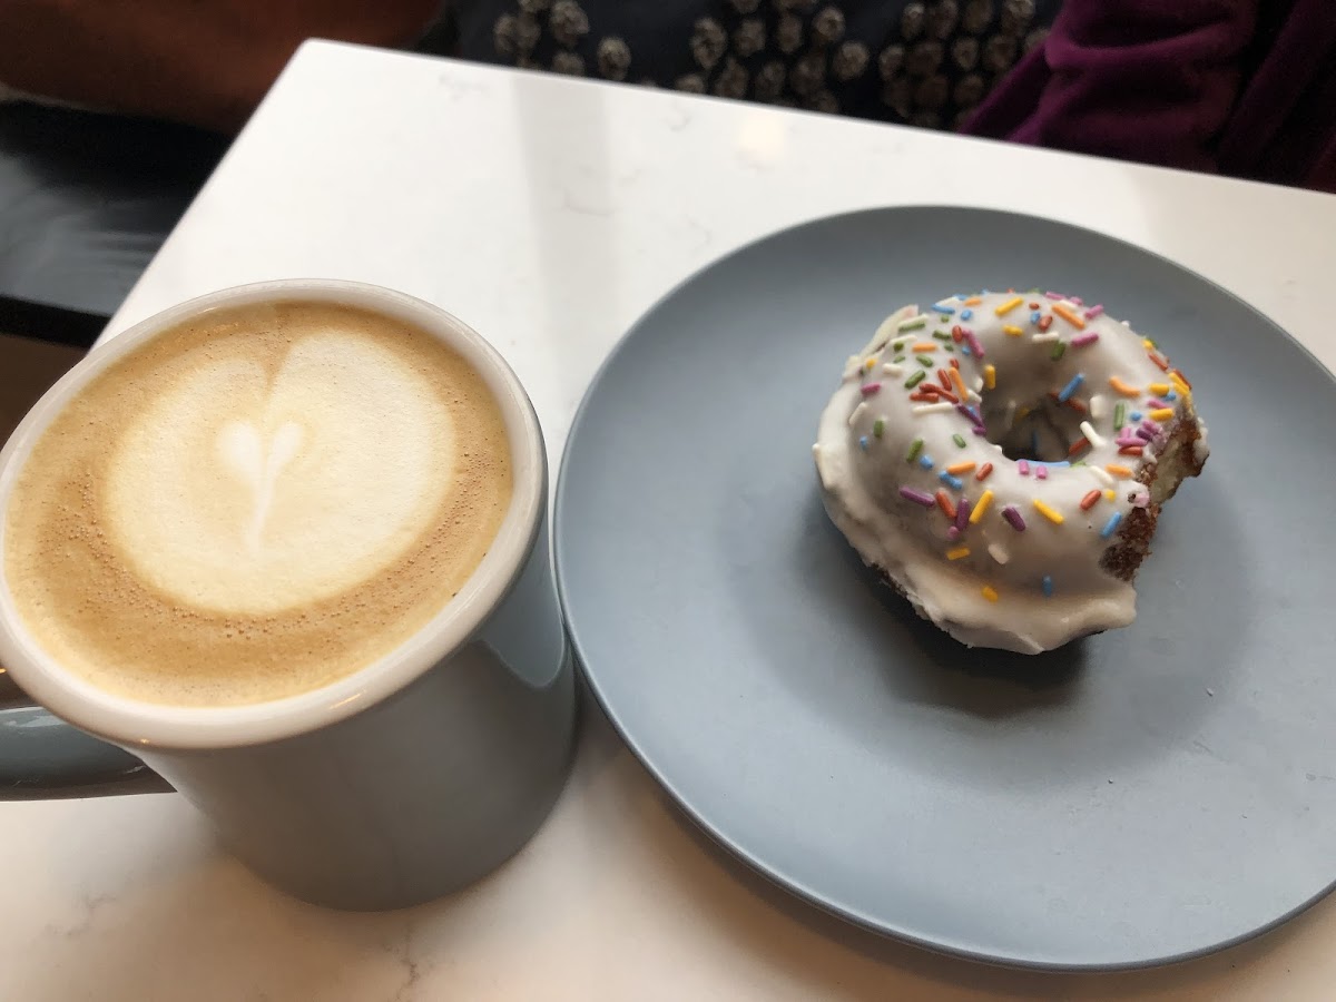
[[[1160,339],[1210,428],[1137,621],[969,651],[863,570],[811,444],[896,307],[1058,287]],[[1336,878],[1336,383],[1198,275],[1045,219],[888,208],[751,244],[599,373],[556,502],[589,684],[705,831],[923,946],[1053,969],[1238,942]]]

